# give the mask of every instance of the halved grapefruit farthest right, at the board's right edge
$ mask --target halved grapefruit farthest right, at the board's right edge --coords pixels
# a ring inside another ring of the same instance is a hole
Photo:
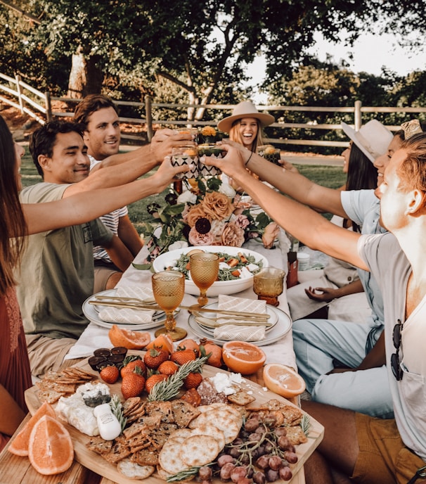
[[[283,364],[266,364],[263,376],[266,388],[281,397],[296,397],[306,388],[302,376]]]

